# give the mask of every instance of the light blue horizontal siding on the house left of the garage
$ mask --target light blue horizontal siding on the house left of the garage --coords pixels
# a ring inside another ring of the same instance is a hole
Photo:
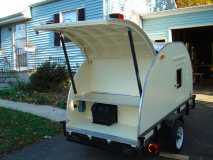
[[[28,69],[34,69],[45,61],[64,63],[62,47],[54,46],[54,33],[33,30],[35,26],[53,20],[53,15],[85,8],[86,20],[103,18],[103,0],[58,0],[31,8],[32,18],[26,23],[27,45],[34,46],[35,52],[27,52]],[[16,24],[1,26],[2,51],[0,51],[0,69],[14,69],[13,30]],[[85,60],[84,54],[73,43],[66,43],[71,66],[76,69]],[[6,59],[5,59],[6,58]],[[8,62],[7,66],[5,63]]]

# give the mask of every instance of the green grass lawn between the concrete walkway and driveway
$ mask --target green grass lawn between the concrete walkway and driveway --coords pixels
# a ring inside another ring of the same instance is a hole
[[[32,114],[0,108],[0,154],[62,133],[59,123]]]

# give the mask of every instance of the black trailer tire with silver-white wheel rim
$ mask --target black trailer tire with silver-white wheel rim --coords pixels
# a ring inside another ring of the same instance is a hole
[[[175,122],[170,131],[170,145],[168,146],[172,152],[179,153],[184,143],[184,127],[179,120]]]

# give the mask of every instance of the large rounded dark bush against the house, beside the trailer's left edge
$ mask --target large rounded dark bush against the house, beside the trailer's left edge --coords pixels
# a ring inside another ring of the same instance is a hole
[[[30,76],[30,86],[36,91],[55,91],[63,89],[68,83],[68,79],[64,65],[46,62]]]

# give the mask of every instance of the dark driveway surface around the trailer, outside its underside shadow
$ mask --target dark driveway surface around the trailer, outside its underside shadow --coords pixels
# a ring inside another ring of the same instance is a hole
[[[212,107],[211,107],[212,106]],[[185,145],[183,154],[192,160],[213,159],[213,105],[200,103],[185,119]],[[125,160],[148,159],[127,157],[97,148],[68,142],[63,136],[45,140],[16,151],[3,160]]]

